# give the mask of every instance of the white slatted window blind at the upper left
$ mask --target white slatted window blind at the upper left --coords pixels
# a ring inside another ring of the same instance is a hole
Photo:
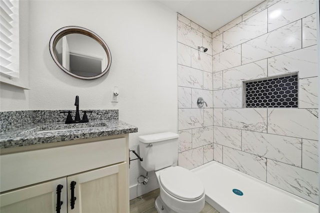
[[[0,74],[19,77],[18,0],[0,0]]]

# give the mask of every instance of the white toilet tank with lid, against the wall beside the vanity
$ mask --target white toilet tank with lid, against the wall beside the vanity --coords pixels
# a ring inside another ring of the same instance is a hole
[[[178,137],[172,132],[139,136],[143,169],[149,172],[175,166],[178,160]]]

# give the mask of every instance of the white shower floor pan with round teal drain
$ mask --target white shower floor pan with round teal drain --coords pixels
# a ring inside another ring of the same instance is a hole
[[[202,180],[205,201],[221,213],[317,213],[318,206],[217,162],[191,170]],[[238,189],[243,196],[235,195]]]

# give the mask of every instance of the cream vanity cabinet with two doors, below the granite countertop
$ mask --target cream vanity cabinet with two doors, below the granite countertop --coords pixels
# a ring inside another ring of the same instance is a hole
[[[129,212],[128,135],[74,142],[1,154],[0,212]]]

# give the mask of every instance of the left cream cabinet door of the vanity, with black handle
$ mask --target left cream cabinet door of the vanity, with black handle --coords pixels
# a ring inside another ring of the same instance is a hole
[[[62,185],[61,209],[56,210],[57,186]],[[21,188],[0,195],[1,213],[66,213],[66,178]]]

